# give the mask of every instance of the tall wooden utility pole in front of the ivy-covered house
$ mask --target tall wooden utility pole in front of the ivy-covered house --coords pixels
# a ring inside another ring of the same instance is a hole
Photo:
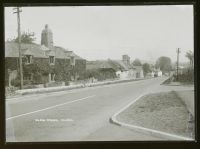
[[[23,68],[22,68],[22,53],[21,53],[21,29],[20,29],[20,7],[13,8],[13,13],[17,13],[17,25],[18,25],[18,49],[19,49],[19,72],[20,72],[20,89],[23,89]]]

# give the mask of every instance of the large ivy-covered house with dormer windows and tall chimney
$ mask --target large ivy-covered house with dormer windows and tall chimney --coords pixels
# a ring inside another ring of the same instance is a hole
[[[62,47],[53,45],[53,34],[45,26],[41,44],[21,44],[24,84],[47,84],[76,80],[86,70],[86,60]],[[6,85],[19,82],[18,43],[5,43]]]

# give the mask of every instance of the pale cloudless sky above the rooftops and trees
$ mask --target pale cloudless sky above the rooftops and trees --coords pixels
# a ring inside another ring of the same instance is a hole
[[[193,51],[193,6],[56,6],[22,7],[21,30],[34,32],[41,42],[45,24],[55,46],[74,51],[87,60],[139,58],[156,61],[160,56],[187,62]],[[5,8],[5,40],[17,37],[17,16]]]

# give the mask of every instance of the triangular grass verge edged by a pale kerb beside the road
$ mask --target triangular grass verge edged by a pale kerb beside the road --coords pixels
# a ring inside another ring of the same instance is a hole
[[[190,137],[188,117],[185,104],[171,91],[142,97],[121,112],[117,119],[127,124]]]

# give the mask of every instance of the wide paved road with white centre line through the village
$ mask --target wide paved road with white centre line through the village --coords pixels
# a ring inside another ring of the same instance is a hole
[[[160,140],[109,122],[110,117],[139,95],[182,87],[160,86],[166,79],[27,95],[6,101],[6,140],[120,141]]]

